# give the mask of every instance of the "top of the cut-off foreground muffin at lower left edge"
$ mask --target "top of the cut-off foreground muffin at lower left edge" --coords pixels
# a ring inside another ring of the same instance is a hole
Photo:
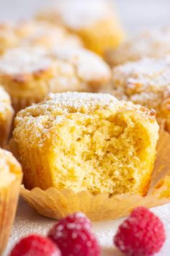
[[[21,174],[21,166],[12,153],[0,149],[0,187],[10,184]]]

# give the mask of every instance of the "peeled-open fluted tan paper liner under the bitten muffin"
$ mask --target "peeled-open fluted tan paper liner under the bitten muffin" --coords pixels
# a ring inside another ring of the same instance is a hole
[[[14,152],[14,142],[9,148]],[[43,191],[21,188],[21,195],[38,213],[50,218],[61,219],[69,213],[81,211],[92,221],[109,220],[128,215],[133,208],[143,205],[147,208],[170,202],[170,135],[161,131],[157,157],[154,165],[151,187],[145,197],[140,195],[91,195],[88,191],[62,191],[50,187]]]

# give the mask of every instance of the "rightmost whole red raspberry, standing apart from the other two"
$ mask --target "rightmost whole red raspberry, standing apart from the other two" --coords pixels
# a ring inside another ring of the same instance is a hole
[[[148,256],[158,252],[165,242],[161,220],[150,210],[138,207],[120,225],[115,246],[130,256]]]

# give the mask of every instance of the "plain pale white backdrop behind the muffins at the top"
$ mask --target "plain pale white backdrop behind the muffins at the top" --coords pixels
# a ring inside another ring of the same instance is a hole
[[[50,2],[53,0],[0,0],[0,20],[31,17]],[[115,4],[128,30],[170,25],[170,0],[115,0]]]

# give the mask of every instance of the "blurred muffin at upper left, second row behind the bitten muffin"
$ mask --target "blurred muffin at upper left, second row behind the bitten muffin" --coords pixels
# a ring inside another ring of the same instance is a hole
[[[17,46],[43,46],[45,48],[83,46],[78,35],[69,33],[61,25],[31,20],[0,24],[0,39],[0,54]]]

